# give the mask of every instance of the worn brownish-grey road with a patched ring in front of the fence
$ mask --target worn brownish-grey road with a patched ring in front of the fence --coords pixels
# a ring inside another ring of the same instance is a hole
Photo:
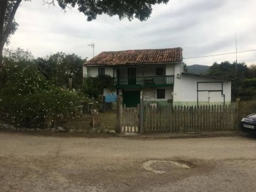
[[[0,132],[0,191],[255,191],[256,138]]]

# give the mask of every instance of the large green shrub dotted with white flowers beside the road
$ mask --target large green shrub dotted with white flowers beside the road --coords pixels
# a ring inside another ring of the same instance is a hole
[[[87,98],[51,85],[33,63],[11,63],[4,68],[0,115],[16,126],[42,127],[47,117],[72,114]]]

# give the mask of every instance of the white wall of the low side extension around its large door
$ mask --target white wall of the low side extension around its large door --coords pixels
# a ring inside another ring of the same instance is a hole
[[[198,90],[202,91],[197,92],[197,82],[208,83],[199,83]],[[220,82],[223,82],[223,95]],[[199,105],[220,105],[224,104],[224,95],[225,104],[230,104],[230,80],[187,74],[174,80],[174,105],[197,105],[197,97]]]

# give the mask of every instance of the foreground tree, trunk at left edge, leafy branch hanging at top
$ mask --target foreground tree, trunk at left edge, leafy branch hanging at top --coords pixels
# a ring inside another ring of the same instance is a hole
[[[1,0],[0,1],[0,69],[2,68],[2,58],[4,45],[8,43],[8,38],[16,31],[17,23],[14,16],[22,0]],[[29,1],[29,0],[23,0]],[[62,9],[67,7],[78,8],[80,12],[87,16],[87,21],[97,18],[97,15],[107,14],[117,15],[120,19],[127,17],[129,21],[138,18],[144,21],[149,18],[152,5],[166,4],[169,0],[43,0],[46,4],[55,4]]]

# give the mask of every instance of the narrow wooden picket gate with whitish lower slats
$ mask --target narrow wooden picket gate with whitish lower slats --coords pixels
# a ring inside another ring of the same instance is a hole
[[[120,132],[139,132],[139,107],[120,107]]]

